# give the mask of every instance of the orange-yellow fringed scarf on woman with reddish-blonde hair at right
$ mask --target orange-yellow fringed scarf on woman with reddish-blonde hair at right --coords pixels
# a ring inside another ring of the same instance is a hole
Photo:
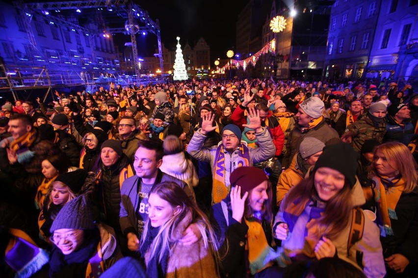
[[[393,235],[391,219],[398,219],[395,208],[405,189],[405,180],[400,175],[392,180],[386,176],[374,176],[372,183],[380,235]]]

